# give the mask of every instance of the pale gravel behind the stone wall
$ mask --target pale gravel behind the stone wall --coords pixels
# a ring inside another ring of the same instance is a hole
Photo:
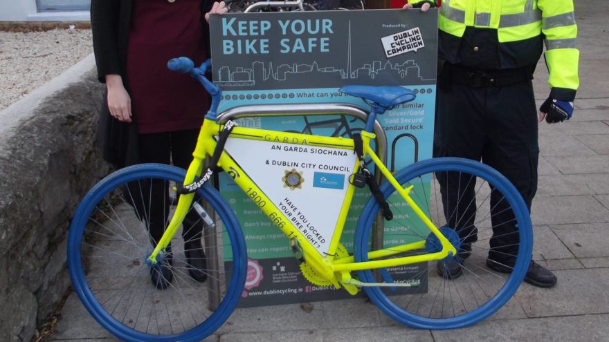
[[[92,52],[90,29],[0,31],[0,111]]]

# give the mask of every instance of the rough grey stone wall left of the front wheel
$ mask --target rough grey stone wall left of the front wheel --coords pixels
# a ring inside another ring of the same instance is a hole
[[[109,172],[93,146],[102,90],[89,55],[0,112],[0,341],[30,341],[71,285],[71,217]]]

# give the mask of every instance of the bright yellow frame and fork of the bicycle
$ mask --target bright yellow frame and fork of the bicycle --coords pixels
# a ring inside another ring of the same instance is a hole
[[[197,146],[192,153],[194,160],[188,167],[188,171],[186,173],[186,177],[184,179],[184,185],[190,184],[194,182],[195,178],[201,175],[203,171],[203,160],[205,160],[206,156],[212,155],[215,147],[216,140],[214,136],[217,136],[224,125],[218,124],[214,120],[206,119],[203,122],[203,126],[201,126],[201,132],[199,133],[199,138],[197,140]],[[217,165],[221,167],[224,171],[228,171],[229,169],[234,169],[239,174],[235,177],[234,181],[237,186],[239,186],[244,192],[248,193],[249,191],[255,191],[257,196],[262,198],[264,204],[259,205],[260,209],[266,213],[266,216],[269,216],[271,220],[284,232],[286,236],[289,238],[294,238],[298,240],[300,247],[302,248],[303,253],[305,254],[305,260],[307,263],[313,267],[316,272],[320,276],[323,276],[328,279],[335,279],[337,275],[340,275],[338,279],[340,279],[340,283],[348,283],[348,279],[350,278],[349,272],[358,271],[363,269],[378,269],[381,267],[393,267],[398,265],[407,265],[412,263],[421,263],[430,260],[441,260],[442,258],[446,258],[449,253],[452,255],[456,255],[457,251],[453,245],[440,233],[439,229],[435,227],[433,222],[429,220],[426,216],[426,213],[422,211],[417,204],[410,198],[410,189],[412,187],[408,187],[403,189],[399,182],[393,177],[392,173],[389,171],[387,167],[383,164],[383,162],[379,159],[379,157],[374,153],[372,148],[370,147],[370,140],[374,139],[374,133],[368,133],[366,131],[361,132],[362,140],[363,140],[363,154],[366,156],[370,156],[376,167],[381,171],[382,175],[387,179],[393,187],[397,190],[397,193],[406,200],[408,205],[410,205],[411,209],[416,213],[416,215],[421,219],[422,222],[428,227],[428,229],[439,239],[440,243],[442,243],[442,250],[437,251],[435,253],[430,254],[421,254],[417,256],[401,256],[398,258],[391,259],[382,259],[376,260],[379,258],[392,256],[401,254],[405,251],[411,251],[415,249],[424,249],[425,241],[419,241],[415,243],[408,243],[405,245],[393,246],[390,249],[379,249],[376,251],[371,251],[368,253],[368,260],[365,262],[356,262],[353,256],[348,256],[345,258],[334,259],[334,254],[336,253],[336,249],[338,247],[338,241],[340,240],[340,236],[343,233],[343,227],[345,225],[345,220],[347,218],[347,211],[349,210],[349,206],[351,205],[351,201],[354,195],[355,186],[353,184],[349,184],[347,187],[347,193],[345,195],[345,200],[343,201],[343,205],[340,208],[340,214],[338,216],[338,222],[336,223],[336,227],[334,229],[334,234],[332,234],[329,251],[327,255],[322,256],[320,252],[313,247],[313,245],[303,236],[300,231],[296,227],[294,227],[290,220],[284,216],[282,211],[276,207],[273,202],[264,194],[263,189],[260,189],[251,178],[239,167],[239,165],[233,160],[233,158],[223,151],[220,155],[219,162]],[[230,133],[230,137],[238,137],[248,140],[264,140],[271,142],[286,142],[291,144],[306,144],[307,146],[324,146],[324,147],[333,147],[336,149],[347,149],[354,150],[354,140],[343,137],[325,137],[320,135],[307,135],[300,133],[290,133],[290,132],[281,132],[281,131],[269,131],[264,129],[253,129],[246,127],[238,127],[235,126],[233,131]],[[354,172],[359,170],[360,164],[356,162],[354,165]],[[163,237],[159,241],[158,245],[152,251],[152,254],[149,256],[148,261],[150,263],[156,263],[156,256],[160,251],[164,251],[165,247],[169,245],[170,240],[176,233],[177,229],[181,225],[182,220],[184,219],[186,213],[190,209],[190,205],[192,204],[192,199],[194,198],[194,193],[190,193],[188,195],[182,195],[179,198],[178,205],[176,207],[176,211],[172,220],[165,230]],[[259,202],[259,203],[260,203]],[[343,286],[345,285],[343,283]],[[335,282],[335,285],[336,284]],[[352,293],[352,291],[349,291]]]

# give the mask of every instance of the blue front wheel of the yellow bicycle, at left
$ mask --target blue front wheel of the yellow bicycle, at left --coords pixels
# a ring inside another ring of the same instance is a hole
[[[72,220],[68,267],[75,292],[123,341],[201,341],[228,319],[242,294],[244,237],[233,210],[209,185],[197,191],[158,263],[146,263],[184,176],[163,164],[120,169],[87,193]]]

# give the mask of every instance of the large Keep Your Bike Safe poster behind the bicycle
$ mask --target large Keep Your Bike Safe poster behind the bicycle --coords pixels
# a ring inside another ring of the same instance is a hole
[[[223,91],[219,113],[251,104],[337,102],[368,110],[370,106],[362,99],[341,93],[340,87],[404,86],[417,95],[416,99],[377,117],[387,140],[385,164],[397,171],[416,160],[431,158],[437,16],[403,10],[235,13],[212,16],[210,29],[213,80]],[[364,122],[349,115],[243,117],[237,124],[343,137],[352,137],[364,126]],[[269,197],[278,207],[298,201],[293,206],[311,212],[307,218],[319,220],[313,227],[334,229],[354,155],[332,155],[337,151],[331,149],[322,153],[311,153],[311,149],[289,151],[288,146],[298,145],[284,142],[255,144],[229,137],[226,150],[240,165],[254,165],[244,171],[264,189],[264,182],[278,184],[283,178],[298,178],[293,183],[296,186],[319,191],[316,196],[307,197],[302,191],[278,189]],[[253,151],[267,151],[268,157],[254,156]],[[320,164],[334,169],[319,169]],[[320,186],[322,180],[327,182],[326,187]],[[240,306],[349,297],[344,290],[336,291],[329,284],[311,285],[306,281],[300,275],[289,239],[252,199],[244,196],[225,174],[221,174],[219,187],[242,223],[248,249],[248,277]],[[367,188],[357,189],[341,238],[347,251],[352,250],[359,213],[369,198]],[[385,231],[391,229],[401,228],[385,227]],[[318,250],[323,251],[331,231],[318,233],[324,240],[317,238]],[[392,239],[394,234],[387,235],[386,245],[406,243]]]

